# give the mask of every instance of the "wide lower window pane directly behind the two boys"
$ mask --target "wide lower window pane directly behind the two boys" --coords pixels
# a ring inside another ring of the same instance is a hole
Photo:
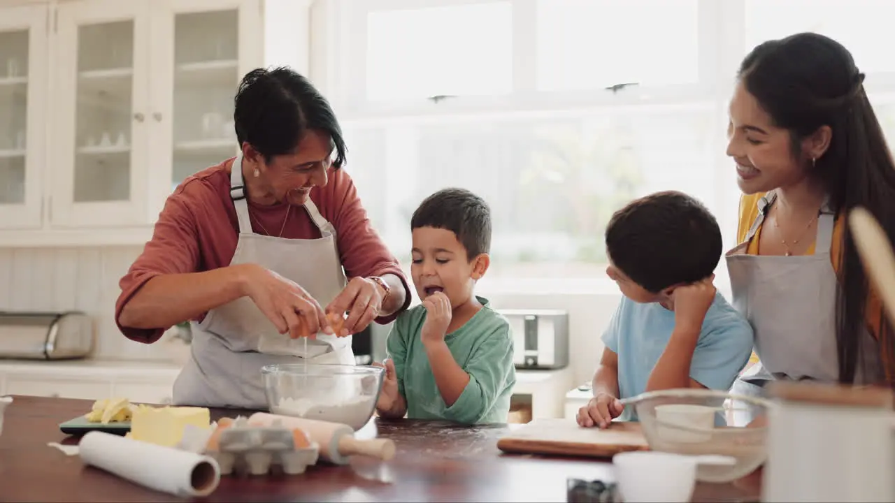
[[[703,179],[712,173],[712,118],[705,104],[349,126],[346,169],[402,262],[413,209],[461,186],[491,206],[491,274],[578,277],[584,267],[593,276],[605,267],[605,224],[627,200],[680,189],[720,205],[714,180]]]

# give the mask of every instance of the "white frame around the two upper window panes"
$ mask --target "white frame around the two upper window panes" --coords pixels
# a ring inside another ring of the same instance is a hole
[[[701,99],[716,93],[720,86],[718,72],[712,63],[717,59],[716,47],[700,44],[699,82],[673,86],[638,85],[618,92],[610,90],[538,91],[537,87],[537,1],[538,0],[332,0],[337,4],[336,37],[340,49],[335,51],[338,81],[337,98],[343,121],[364,120],[379,116],[451,115],[463,113],[499,113],[514,110],[550,110],[564,107],[613,106],[619,102],[633,104],[668,103]],[[739,2],[741,0],[734,0]],[[433,103],[413,98],[404,102],[378,103],[366,100],[366,16],[370,13],[404,9],[458,6],[469,4],[509,3],[513,6],[513,92],[501,96],[457,96]],[[716,17],[720,5],[712,0],[697,0],[698,16]],[[704,12],[703,12],[704,11]],[[719,31],[699,21],[703,39]],[[711,32],[711,33],[710,33]]]

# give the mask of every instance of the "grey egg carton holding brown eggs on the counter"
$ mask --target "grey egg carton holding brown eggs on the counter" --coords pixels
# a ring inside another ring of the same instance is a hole
[[[316,465],[320,454],[320,446],[313,442],[310,448],[295,448],[292,429],[249,426],[244,420],[221,431],[217,443],[217,450],[206,454],[215,458],[222,475],[264,475],[274,466],[288,475],[297,475]]]

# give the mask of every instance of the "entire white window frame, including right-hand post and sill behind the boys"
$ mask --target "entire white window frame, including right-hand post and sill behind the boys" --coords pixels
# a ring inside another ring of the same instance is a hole
[[[509,2],[513,5],[513,92],[504,96],[456,97],[433,103],[413,99],[403,103],[372,103],[366,96],[366,16],[369,13],[465,4]],[[390,124],[443,124],[470,117],[530,117],[562,115],[583,108],[594,110],[625,107],[704,106],[715,107],[719,127],[709,141],[717,145],[713,161],[718,169],[729,169],[729,179],[717,176],[715,190],[720,200],[716,209],[725,246],[736,238],[740,192],[733,181],[733,163],[725,152],[723,124],[728,120],[728,100],[736,84],[737,67],[746,55],[747,0],[697,0],[698,75],[693,84],[637,86],[618,92],[609,90],[538,91],[537,86],[537,0],[328,0],[320,17],[312,24],[311,79],[322,81],[321,90],[336,109],[343,126],[385,126]],[[320,2],[317,3],[318,5]],[[318,5],[315,5],[317,8]],[[321,33],[325,32],[325,33]],[[895,72],[867,73],[865,89],[872,98],[895,102]],[[895,141],[893,141],[895,143]],[[732,227],[731,228],[731,223]],[[407,266],[406,269],[409,269]],[[716,284],[729,290],[725,260],[720,260]],[[605,294],[617,292],[607,277],[588,278],[488,278],[488,293],[495,294]],[[483,285],[485,286],[485,285]]]

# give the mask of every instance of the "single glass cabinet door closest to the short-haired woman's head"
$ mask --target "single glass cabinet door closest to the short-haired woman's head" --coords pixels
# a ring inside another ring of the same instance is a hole
[[[153,144],[170,168],[154,187],[151,216],[185,178],[236,155],[234,93],[259,65],[246,28],[257,9],[244,0],[181,0],[153,18],[153,38],[166,41],[164,51],[153,53],[152,66],[166,83],[150,90],[154,120],[170,124],[158,128]]]

